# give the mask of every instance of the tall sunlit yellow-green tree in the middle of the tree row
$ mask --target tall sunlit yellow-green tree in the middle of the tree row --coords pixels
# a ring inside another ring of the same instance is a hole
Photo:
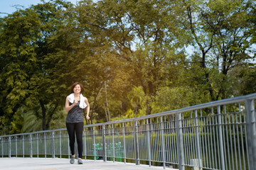
[[[170,19],[175,16],[171,7],[166,1],[80,1],[78,21],[87,30],[85,36],[125,63],[127,72],[132,69],[129,79],[134,86],[154,96],[161,84],[165,53],[178,30]],[[150,114],[149,100],[147,106]]]

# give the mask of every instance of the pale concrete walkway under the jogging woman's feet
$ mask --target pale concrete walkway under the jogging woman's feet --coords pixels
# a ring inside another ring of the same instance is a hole
[[[135,165],[124,162],[103,162],[94,160],[83,160],[83,164],[70,164],[69,159],[60,158],[0,158],[0,169],[3,170],[73,170],[73,169],[98,169],[98,170],[143,170],[143,169],[164,169],[161,166]],[[166,169],[174,170],[169,167]]]

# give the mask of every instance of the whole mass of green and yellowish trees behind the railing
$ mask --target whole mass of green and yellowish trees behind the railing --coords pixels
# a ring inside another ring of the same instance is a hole
[[[255,93],[254,1],[49,1],[0,20],[1,134],[65,127],[74,81],[87,123]]]

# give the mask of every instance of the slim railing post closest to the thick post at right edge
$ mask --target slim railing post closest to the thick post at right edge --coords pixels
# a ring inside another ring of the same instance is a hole
[[[220,113],[220,106],[217,106],[217,113],[218,113],[218,132],[219,132],[219,142],[220,142],[220,163],[221,169],[225,170],[225,157],[224,157],[224,150],[223,150],[223,130],[222,130],[222,121],[221,121],[221,113]]]

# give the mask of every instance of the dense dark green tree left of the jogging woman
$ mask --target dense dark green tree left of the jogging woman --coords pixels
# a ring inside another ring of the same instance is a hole
[[[71,7],[63,1],[48,2],[1,18],[2,121],[11,122],[18,108],[40,106],[42,129],[47,130],[53,114],[63,108],[66,84],[75,77],[75,63],[70,61],[79,42],[73,19],[65,16]]]

